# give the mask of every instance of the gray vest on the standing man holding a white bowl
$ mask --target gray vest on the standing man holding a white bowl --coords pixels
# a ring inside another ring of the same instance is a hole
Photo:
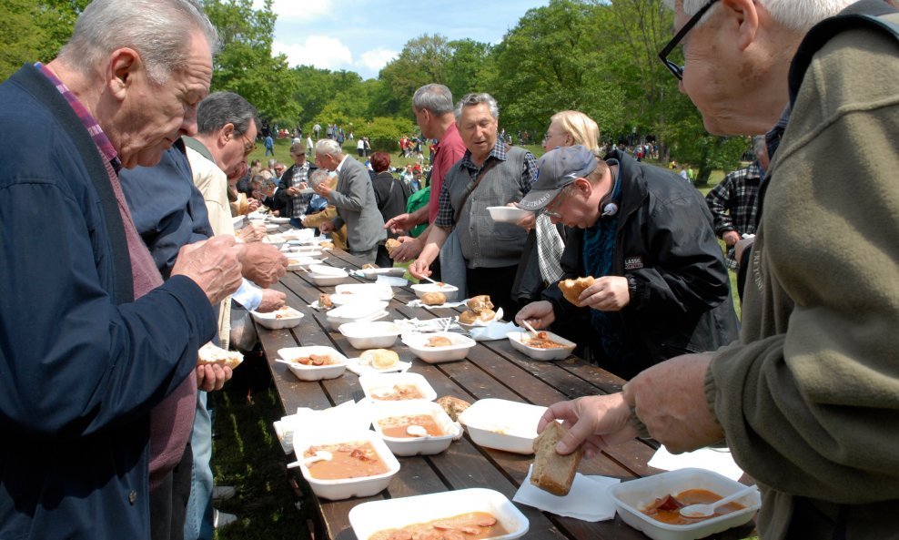
[[[506,160],[484,174],[464,203],[462,199],[474,179],[469,170],[462,167],[461,160],[449,168],[444,181],[449,189],[449,201],[459,216],[455,230],[468,268],[500,268],[519,263],[528,232],[514,223],[494,221],[487,207],[505,206],[524,197],[526,191],[521,188],[521,170],[526,154],[522,148],[509,148]],[[463,205],[461,209],[460,204]]]

